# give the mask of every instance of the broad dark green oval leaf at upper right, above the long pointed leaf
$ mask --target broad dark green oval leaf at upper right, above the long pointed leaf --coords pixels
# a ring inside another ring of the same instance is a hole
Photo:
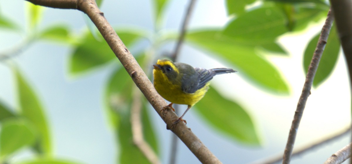
[[[266,44],[288,31],[285,21],[278,8],[262,7],[231,21],[223,34],[246,43]]]

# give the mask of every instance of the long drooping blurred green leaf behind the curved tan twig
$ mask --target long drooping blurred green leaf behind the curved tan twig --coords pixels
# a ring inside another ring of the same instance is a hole
[[[144,57],[145,55],[140,55],[137,58],[138,63],[143,63]],[[141,66],[143,67],[143,64]],[[149,163],[132,140],[130,110],[133,101],[133,86],[134,83],[125,69],[119,68],[112,73],[106,88],[107,113],[113,128],[117,132],[118,145],[120,146],[120,163]],[[146,103],[142,102],[142,104],[143,136],[154,151],[158,152],[156,136],[146,111]]]

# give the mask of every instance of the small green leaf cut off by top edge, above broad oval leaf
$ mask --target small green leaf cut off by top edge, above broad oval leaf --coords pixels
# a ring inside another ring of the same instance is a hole
[[[226,0],[227,14],[242,14],[245,12],[246,5],[252,4],[256,0]]]

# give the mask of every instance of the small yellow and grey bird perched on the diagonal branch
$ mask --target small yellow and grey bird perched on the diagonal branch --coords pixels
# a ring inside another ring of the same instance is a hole
[[[184,114],[200,99],[209,89],[209,80],[217,74],[237,72],[231,68],[194,68],[185,63],[174,63],[168,59],[158,60],[153,65],[154,87],[164,99],[171,103],[163,108],[175,109],[172,104],[188,105],[187,110],[175,120],[174,124],[186,120],[182,119]]]

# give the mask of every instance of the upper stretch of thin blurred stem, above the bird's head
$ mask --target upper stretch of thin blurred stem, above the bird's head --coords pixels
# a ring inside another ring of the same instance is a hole
[[[177,44],[176,44],[176,47],[175,47],[175,51],[174,51],[174,53],[172,53],[172,55],[171,55],[172,61],[176,61],[176,60],[177,60],[178,54],[179,54],[179,52],[180,52],[180,50],[181,50],[181,45],[182,45],[182,42],[183,42],[183,40],[184,40],[184,36],[186,35],[188,22],[189,22],[189,19],[191,18],[191,13],[192,13],[192,11],[193,11],[195,1],[196,1],[196,0],[191,0],[191,1],[189,2],[188,8],[187,8],[187,12],[186,12],[186,14],[184,15],[184,19],[183,19],[183,23],[182,23],[182,28],[181,28],[181,33],[180,33],[180,36],[179,36],[179,38],[178,38],[178,41],[177,41]]]

